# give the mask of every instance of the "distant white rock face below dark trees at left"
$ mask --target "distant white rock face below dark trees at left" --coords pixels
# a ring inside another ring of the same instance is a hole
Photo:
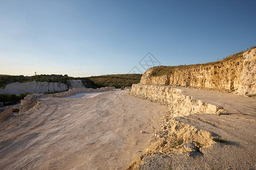
[[[88,87],[86,82],[82,82],[82,80],[68,80],[67,83],[62,82],[28,82],[28,83],[11,83],[7,84],[5,89],[0,89],[0,94],[40,94],[44,92],[55,92],[55,91],[66,91],[69,88],[84,88]]]

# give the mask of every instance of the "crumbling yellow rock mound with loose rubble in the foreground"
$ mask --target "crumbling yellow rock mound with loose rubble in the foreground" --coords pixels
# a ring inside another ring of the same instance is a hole
[[[214,143],[213,136],[208,131],[198,130],[169,116],[164,116],[161,119],[163,124],[160,126],[160,130],[154,133],[158,141],[151,143],[145,149],[145,153],[135,158],[126,169],[151,169],[156,164],[159,164],[159,167],[156,166],[159,169],[168,166],[170,168],[171,153],[200,152],[201,147],[207,147]],[[159,154],[162,156],[159,157]]]

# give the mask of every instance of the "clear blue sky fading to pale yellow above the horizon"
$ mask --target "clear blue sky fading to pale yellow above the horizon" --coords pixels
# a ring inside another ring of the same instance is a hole
[[[256,45],[256,1],[0,1],[0,74],[126,74]]]

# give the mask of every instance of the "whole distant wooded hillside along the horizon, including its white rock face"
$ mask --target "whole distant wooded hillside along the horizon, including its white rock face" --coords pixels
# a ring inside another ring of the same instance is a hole
[[[30,93],[55,93],[77,87],[131,86],[139,83],[141,76],[141,74],[118,74],[74,78],[55,74],[34,76],[0,74],[0,102],[14,104]]]

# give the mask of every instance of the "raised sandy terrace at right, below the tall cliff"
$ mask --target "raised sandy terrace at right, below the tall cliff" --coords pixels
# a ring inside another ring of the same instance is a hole
[[[193,99],[220,105],[231,113],[221,116],[203,113],[174,118],[196,129],[209,131],[227,143],[214,143],[201,148],[201,152],[170,153],[165,158],[156,154],[147,158],[141,169],[169,167],[170,162],[172,169],[256,169],[256,99],[213,90],[175,88],[183,90],[183,94]]]

